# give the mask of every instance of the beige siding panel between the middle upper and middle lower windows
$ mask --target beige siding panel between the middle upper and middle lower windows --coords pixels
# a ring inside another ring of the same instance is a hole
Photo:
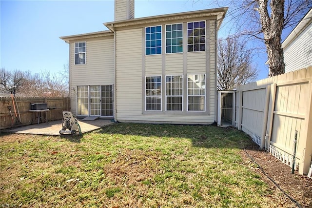
[[[166,75],[183,75],[183,53],[166,54]]]

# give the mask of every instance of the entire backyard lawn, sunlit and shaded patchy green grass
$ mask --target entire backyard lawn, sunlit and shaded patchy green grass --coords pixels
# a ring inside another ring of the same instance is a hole
[[[0,203],[24,207],[270,207],[236,129],[115,124],[74,137],[0,137]]]

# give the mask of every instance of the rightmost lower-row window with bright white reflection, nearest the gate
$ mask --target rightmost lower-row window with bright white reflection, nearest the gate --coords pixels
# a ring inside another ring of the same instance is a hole
[[[188,111],[206,111],[206,75],[187,76]]]

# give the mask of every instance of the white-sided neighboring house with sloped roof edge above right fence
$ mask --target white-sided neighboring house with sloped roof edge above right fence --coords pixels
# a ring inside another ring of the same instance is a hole
[[[282,43],[285,73],[312,66],[312,9]]]

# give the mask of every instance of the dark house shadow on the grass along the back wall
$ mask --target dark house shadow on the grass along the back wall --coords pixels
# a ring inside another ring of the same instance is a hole
[[[216,125],[171,125],[117,123],[97,133],[137,135],[142,137],[185,138],[192,145],[205,148],[239,148],[251,145],[250,137],[234,127]]]

